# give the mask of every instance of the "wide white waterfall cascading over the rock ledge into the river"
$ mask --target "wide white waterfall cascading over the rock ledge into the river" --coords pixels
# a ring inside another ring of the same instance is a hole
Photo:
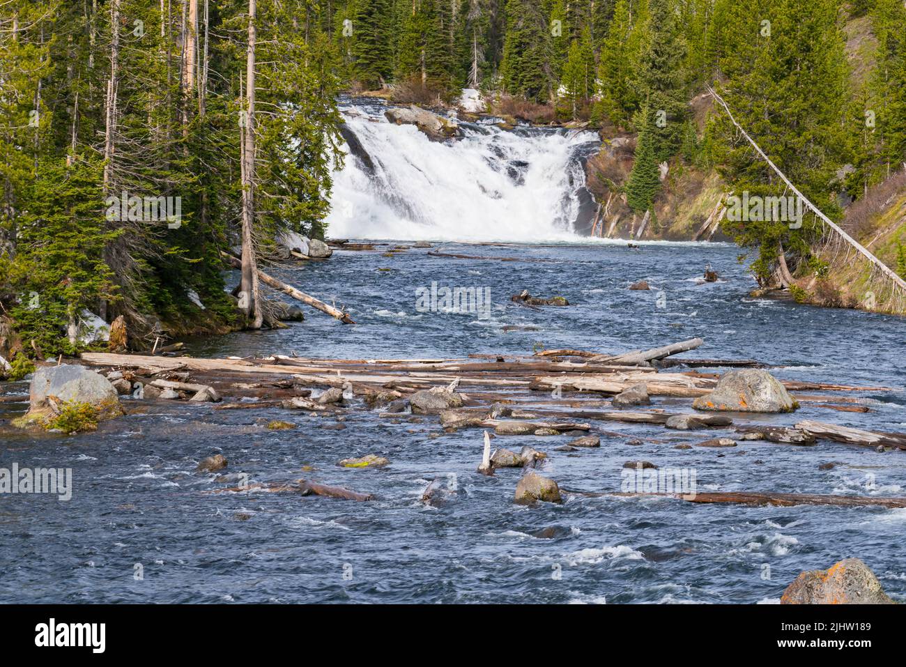
[[[441,143],[386,121],[380,108],[346,111],[373,171],[347,155],[333,184],[331,237],[575,240],[585,182],[579,156],[597,145],[595,133],[461,124],[462,139]]]

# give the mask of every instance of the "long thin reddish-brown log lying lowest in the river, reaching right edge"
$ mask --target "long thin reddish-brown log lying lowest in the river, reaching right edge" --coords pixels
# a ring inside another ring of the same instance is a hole
[[[576,491],[566,488],[564,493],[585,496],[587,498],[605,498],[616,496],[618,498],[677,498],[690,503],[735,503],[739,505],[775,507],[794,507],[796,505],[834,505],[838,507],[906,507],[906,498],[878,498],[866,496],[831,496],[810,493],[772,493],[769,491],[724,491],[718,493],[694,493],[683,495],[679,493],[626,493],[613,491]]]

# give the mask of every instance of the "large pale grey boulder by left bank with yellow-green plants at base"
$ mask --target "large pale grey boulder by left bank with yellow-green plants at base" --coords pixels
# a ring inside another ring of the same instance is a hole
[[[122,414],[119,394],[107,378],[82,366],[68,364],[45,366],[35,371],[29,401],[28,413],[17,420],[23,426],[53,416],[64,403],[89,403],[98,410],[100,419]]]

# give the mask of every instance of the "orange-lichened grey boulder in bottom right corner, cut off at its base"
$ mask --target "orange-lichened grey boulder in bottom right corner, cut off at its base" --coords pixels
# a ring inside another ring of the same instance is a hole
[[[894,604],[871,568],[858,558],[846,558],[826,570],[797,576],[780,597],[780,604]]]

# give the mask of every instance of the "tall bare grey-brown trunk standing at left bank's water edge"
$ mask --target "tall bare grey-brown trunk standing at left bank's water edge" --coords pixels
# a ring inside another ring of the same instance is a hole
[[[258,268],[255,261],[255,0],[248,0],[248,50],[246,53],[246,117],[242,147],[242,278],[240,307],[254,329],[264,323]]]

